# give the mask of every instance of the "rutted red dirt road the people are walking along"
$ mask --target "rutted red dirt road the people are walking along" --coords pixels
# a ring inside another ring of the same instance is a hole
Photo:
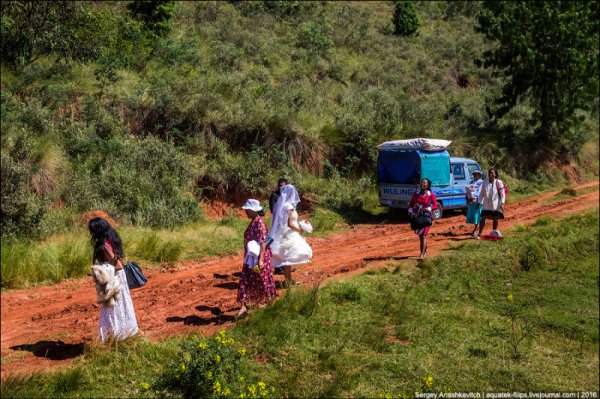
[[[500,229],[533,222],[543,215],[561,217],[598,208],[598,182],[576,187],[590,188],[590,193],[564,200],[552,201],[557,194],[553,192],[511,203]],[[430,233],[430,255],[439,253],[450,241],[469,239],[471,225],[464,221],[463,215],[455,214],[435,223]],[[487,226],[486,231],[490,228]],[[416,259],[419,252],[418,240],[406,222],[355,225],[350,231],[308,241],[314,250],[313,263],[298,267],[294,273],[295,279],[305,283],[350,275],[391,259]],[[174,269],[151,272],[148,284],[132,291],[140,329],[151,340],[159,340],[230,324],[239,306],[240,262],[237,255],[203,263],[186,261]],[[407,263],[406,267],[414,265]],[[3,292],[2,375],[46,369],[79,356],[84,342],[97,334],[99,308],[94,299],[89,277]]]

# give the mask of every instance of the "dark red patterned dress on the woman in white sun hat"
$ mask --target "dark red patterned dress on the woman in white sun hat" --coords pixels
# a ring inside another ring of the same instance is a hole
[[[260,245],[267,242],[267,226],[264,220],[257,216],[248,225],[244,232],[244,255],[246,255],[246,244],[255,240]],[[238,290],[238,301],[241,303],[266,303],[277,296],[275,280],[271,270],[271,249],[267,249],[263,255],[264,265],[260,273],[244,266],[240,277],[240,288]]]

